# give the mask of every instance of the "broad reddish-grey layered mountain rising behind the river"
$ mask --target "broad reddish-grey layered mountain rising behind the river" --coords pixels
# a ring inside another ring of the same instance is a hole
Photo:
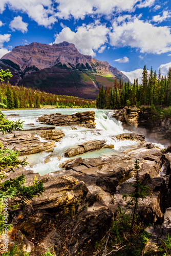
[[[34,87],[48,93],[95,99],[99,87],[114,86],[116,79],[129,81],[107,61],[83,55],[73,44],[46,45],[32,42],[16,46],[0,60],[0,69],[9,69],[12,84]]]

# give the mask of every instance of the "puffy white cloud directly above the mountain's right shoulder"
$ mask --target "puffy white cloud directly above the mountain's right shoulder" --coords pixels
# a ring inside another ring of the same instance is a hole
[[[106,37],[108,33],[109,28],[106,28],[105,25],[82,25],[77,28],[76,32],[67,27],[63,28],[59,34],[56,34],[54,43],[68,41],[73,43],[82,54],[96,56],[94,51],[100,50],[105,42],[108,41]]]

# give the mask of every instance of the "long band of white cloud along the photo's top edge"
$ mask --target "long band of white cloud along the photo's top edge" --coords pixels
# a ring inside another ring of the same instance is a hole
[[[51,27],[61,19],[83,19],[86,15],[111,16],[115,12],[133,12],[136,7],[150,7],[155,0],[1,0],[0,13],[10,10],[27,13],[38,25]]]

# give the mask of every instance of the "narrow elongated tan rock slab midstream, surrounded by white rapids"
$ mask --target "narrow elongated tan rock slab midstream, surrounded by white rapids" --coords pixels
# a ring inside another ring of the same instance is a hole
[[[101,150],[101,148],[108,147],[109,145],[105,145],[105,140],[91,140],[88,142],[84,142],[76,147],[69,148],[64,152],[65,157],[74,157],[86,152]],[[114,147],[114,146],[113,146]],[[111,145],[110,145],[111,148]]]

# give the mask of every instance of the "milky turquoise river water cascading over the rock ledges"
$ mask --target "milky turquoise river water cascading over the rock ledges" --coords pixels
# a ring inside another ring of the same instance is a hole
[[[30,129],[31,126],[27,125],[30,123],[34,123],[34,125],[38,126],[45,126],[37,122],[37,117],[40,115],[57,112],[71,115],[76,112],[84,112],[89,110],[92,109],[16,110],[5,111],[5,114],[19,114],[19,116],[12,117],[10,120],[15,121],[20,118],[21,121],[25,121],[24,129]],[[93,110],[95,111],[96,116],[96,129],[76,127],[77,130],[72,130],[71,126],[56,127],[56,129],[61,129],[65,133],[65,136],[60,141],[55,142],[56,147],[54,147],[53,153],[38,153],[29,155],[27,161],[30,164],[26,166],[26,169],[31,168],[34,170],[34,172],[38,172],[40,175],[60,170],[60,164],[68,160],[68,158],[63,157],[63,152],[72,146],[90,140],[105,140],[106,144],[113,144],[114,148],[105,148],[100,151],[86,153],[81,155],[82,158],[98,156],[106,157],[113,154],[118,154],[119,151],[127,150],[127,148],[137,144],[135,141],[116,140],[114,137],[115,135],[128,131],[123,129],[121,122],[111,117],[110,112],[108,114],[108,110]]]

